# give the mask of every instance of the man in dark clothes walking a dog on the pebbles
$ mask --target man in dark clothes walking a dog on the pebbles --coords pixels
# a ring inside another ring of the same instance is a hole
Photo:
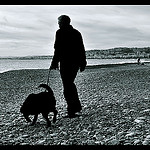
[[[56,31],[55,51],[50,69],[57,69],[60,63],[68,117],[74,118],[78,116],[76,113],[82,110],[74,80],[79,69],[81,72],[85,70],[87,62],[81,33],[74,29],[70,22],[66,15],[58,17],[60,29]]]

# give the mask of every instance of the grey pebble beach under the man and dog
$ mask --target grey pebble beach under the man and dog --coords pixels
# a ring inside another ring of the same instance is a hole
[[[29,126],[20,107],[46,83],[47,69],[0,73],[0,145],[150,145],[150,65],[87,67],[75,83],[82,116],[67,114],[59,71],[50,73],[58,110],[51,127],[39,115]],[[49,114],[49,118],[53,114]],[[32,116],[31,116],[32,117]]]

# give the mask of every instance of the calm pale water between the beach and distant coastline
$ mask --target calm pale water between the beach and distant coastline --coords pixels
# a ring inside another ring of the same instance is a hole
[[[150,59],[141,59],[142,62]],[[134,63],[136,59],[87,59],[87,65],[101,65],[101,64],[120,64],[120,63]],[[9,60],[0,59],[0,73],[9,70],[20,69],[48,69],[51,64],[51,59],[32,59],[32,60]]]

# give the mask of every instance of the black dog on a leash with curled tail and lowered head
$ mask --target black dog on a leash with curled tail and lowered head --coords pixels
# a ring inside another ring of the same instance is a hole
[[[41,92],[38,94],[30,94],[23,105],[21,106],[20,112],[28,122],[31,122],[29,115],[34,115],[34,119],[31,125],[34,125],[37,121],[38,114],[42,113],[46,119],[48,126],[51,126],[51,122],[48,119],[49,112],[54,113],[53,122],[56,122],[56,100],[51,88],[46,84],[40,84],[39,87],[45,88],[48,92]]]

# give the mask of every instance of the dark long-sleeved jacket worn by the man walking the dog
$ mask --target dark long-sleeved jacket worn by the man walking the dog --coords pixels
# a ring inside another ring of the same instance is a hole
[[[56,32],[52,66],[85,67],[86,56],[81,33],[71,25],[60,28]]]

